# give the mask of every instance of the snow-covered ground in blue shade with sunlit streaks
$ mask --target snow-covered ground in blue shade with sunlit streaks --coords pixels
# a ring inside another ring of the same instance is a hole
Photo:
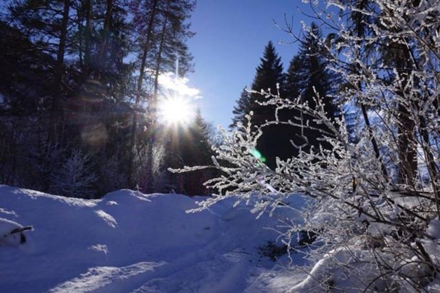
[[[3,230],[34,226],[23,244],[0,239],[0,292],[285,292],[305,279],[285,257],[261,255],[278,236],[265,229],[276,219],[256,220],[232,201],[185,213],[196,200],[129,190],[74,199],[0,186]]]

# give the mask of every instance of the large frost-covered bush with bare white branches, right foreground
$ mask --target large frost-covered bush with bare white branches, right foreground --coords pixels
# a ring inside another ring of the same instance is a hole
[[[206,182],[218,194],[194,211],[236,197],[261,215],[285,208],[288,197],[309,196],[301,211],[304,223],[287,219],[287,230],[281,231],[292,249],[298,232],[316,233],[307,255],[316,265],[292,292],[440,290],[440,1],[326,4],[341,13],[333,17],[316,10],[335,32],[319,40],[321,54],[344,80],[339,100],[362,109],[359,142],[349,139],[344,111],[335,120],[327,117],[322,97],[316,95],[312,107],[301,97],[284,99],[262,90],[263,104],[276,107],[272,121],[254,127],[250,113],[247,124],[221,132],[213,166],[173,171],[221,171]],[[281,120],[282,109],[302,111],[313,121]],[[306,151],[292,141],[299,155],[278,159],[270,169],[255,149],[265,127],[274,124],[324,125],[316,130],[332,148]]]

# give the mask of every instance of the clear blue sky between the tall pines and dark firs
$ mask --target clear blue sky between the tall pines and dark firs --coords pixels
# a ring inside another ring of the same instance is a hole
[[[198,0],[192,14],[192,31],[188,44],[195,56],[195,72],[188,74],[189,84],[201,90],[197,105],[206,120],[214,126],[227,127],[232,118],[235,100],[243,87],[250,86],[255,68],[260,63],[267,42],[272,40],[285,69],[296,54],[292,36],[281,31],[274,20],[284,24],[294,17],[295,30],[300,20],[309,23],[301,12],[310,12],[301,0]]]

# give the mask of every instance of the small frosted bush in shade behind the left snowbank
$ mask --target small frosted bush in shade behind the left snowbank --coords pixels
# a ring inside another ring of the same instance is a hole
[[[89,157],[82,151],[74,150],[64,164],[54,172],[51,192],[67,197],[91,198],[91,187],[96,175],[89,165]]]

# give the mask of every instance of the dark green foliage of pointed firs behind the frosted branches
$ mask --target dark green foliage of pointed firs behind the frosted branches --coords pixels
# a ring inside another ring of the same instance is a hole
[[[252,83],[252,89],[267,91],[271,89],[272,94],[277,94],[276,85],[282,98],[296,100],[301,97],[300,102],[308,102],[311,107],[316,106],[315,99],[319,97],[325,104],[325,111],[331,118],[338,114],[336,102],[333,94],[339,84],[338,76],[332,74],[327,69],[325,50],[320,45],[322,32],[316,23],[311,23],[311,28],[301,40],[298,55],[292,58],[287,69],[287,74],[283,74],[281,58],[276,54],[274,44],[269,42],[265,47],[263,58],[259,67],[256,68],[256,76]],[[243,91],[237,105],[234,107],[234,118],[230,127],[236,127],[238,122],[246,122],[245,114],[254,112],[252,124],[261,126],[269,121],[274,121],[274,107],[261,106],[259,102],[265,102],[265,96],[261,94],[248,94]],[[283,109],[279,111],[278,118],[281,122],[293,122],[292,124],[271,124],[265,126],[263,135],[257,142],[257,151],[261,153],[263,161],[274,168],[276,158],[286,160],[293,155],[298,155],[296,146],[303,146],[307,150],[311,146],[320,145],[329,148],[325,142],[318,140],[321,136],[320,131],[313,130],[300,125],[305,125],[307,121],[312,127],[325,130],[325,127],[314,123],[314,118],[301,113],[299,110]],[[294,142],[295,146],[292,145]]]

